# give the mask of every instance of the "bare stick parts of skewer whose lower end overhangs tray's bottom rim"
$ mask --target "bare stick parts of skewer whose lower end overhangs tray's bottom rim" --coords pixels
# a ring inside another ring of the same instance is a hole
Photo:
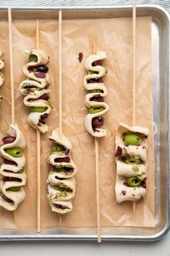
[[[96,35],[93,34],[93,54],[96,54]],[[98,138],[95,137],[95,181],[96,181],[96,200],[97,200],[97,222],[98,222],[98,243],[101,243],[101,204],[100,204],[100,177],[98,168]]]

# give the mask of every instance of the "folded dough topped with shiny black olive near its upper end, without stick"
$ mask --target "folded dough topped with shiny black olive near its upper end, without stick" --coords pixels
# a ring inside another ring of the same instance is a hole
[[[20,83],[20,92],[25,96],[24,104],[30,108],[27,122],[30,126],[46,133],[46,117],[51,112],[48,86],[48,55],[41,50],[25,51],[29,55],[29,63],[23,67],[27,79]]]

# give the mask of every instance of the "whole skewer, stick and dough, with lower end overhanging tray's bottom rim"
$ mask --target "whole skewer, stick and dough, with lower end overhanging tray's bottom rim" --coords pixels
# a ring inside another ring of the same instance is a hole
[[[98,167],[98,138],[106,136],[106,130],[101,128],[104,120],[103,115],[108,112],[109,105],[104,102],[103,97],[107,94],[103,78],[106,75],[106,68],[103,67],[103,60],[106,59],[105,51],[96,51],[95,30],[93,35],[93,54],[85,61],[85,70],[88,75],[84,78],[84,87],[87,91],[85,106],[89,108],[89,114],[85,117],[86,130],[95,137],[95,182],[96,182],[96,203],[97,203],[97,226],[98,242],[101,242],[101,212],[100,212],[100,181]]]

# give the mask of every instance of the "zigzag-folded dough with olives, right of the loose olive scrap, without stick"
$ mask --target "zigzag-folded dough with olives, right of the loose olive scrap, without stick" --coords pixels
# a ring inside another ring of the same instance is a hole
[[[85,70],[88,72],[84,78],[84,87],[87,91],[85,106],[89,108],[89,114],[85,117],[85,128],[95,137],[106,136],[106,130],[101,128],[104,123],[103,115],[109,110],[109,105],[103,102],[103,97],[107,94],[103,83],[107,73],[103,67],[103,60],[106,58],[106,52],[98,51],[85,61]]]

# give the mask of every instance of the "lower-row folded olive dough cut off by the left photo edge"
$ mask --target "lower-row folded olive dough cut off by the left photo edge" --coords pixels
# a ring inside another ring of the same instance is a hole
[[[25,199],[22,186],[26,183],[24,172],[25,157],[22,156],[26,141],[17,125],[10,125],[8,136],[2,139],[0,154],[4,162],[1,164],[0,174],[4,176],[0,182],[0,206],[9,211]]]

